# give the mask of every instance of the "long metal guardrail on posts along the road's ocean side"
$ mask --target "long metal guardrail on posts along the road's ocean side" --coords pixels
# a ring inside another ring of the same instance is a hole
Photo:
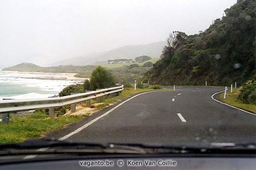
[[[90,107],[90,99],[97,98],[99,102],[102,96],[108,97],[108,95],[115,93],[118,96],[122,90],[123,85],[63,97],[3,100],[0,101],[0,114],[2,114],[3,123],[8,123],[9,113],[49,108],[50,118],[56,118],[55,108],[71,105],[71,112],[75,112],[76,103],[86,101],[86,105]]]

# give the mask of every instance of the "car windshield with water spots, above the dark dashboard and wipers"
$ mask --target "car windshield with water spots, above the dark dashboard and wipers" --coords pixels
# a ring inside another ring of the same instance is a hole
[[[255,0],[1,0],[0,144],[254,145],[255,10]]]

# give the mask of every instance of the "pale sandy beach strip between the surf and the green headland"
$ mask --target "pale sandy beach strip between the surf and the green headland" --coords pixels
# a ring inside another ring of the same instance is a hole
[[[51,80],[57,80],[57,79],[62,79],[62,80],[85,80],[89,78],[81,78],[81,77],[74,77],[76,73],[47,73],[47,72],[20,72],[20,71],[0,71],[0,73],[20,73],[20,74],[47,74],[47,75],[59,75],[60,77],[28,77],[29,79],[51,79]],[[63,75],[63,77],[61,76]]]

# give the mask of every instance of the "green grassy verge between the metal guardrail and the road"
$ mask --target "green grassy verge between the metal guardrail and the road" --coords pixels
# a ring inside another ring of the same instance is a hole
[[[135,91],[134,88],[124,88],[119,96],[109,99],[103,99],[102,97],[103,104],[98,105],[96,108],[100,110],[124,97],[152,90],[137,88]],[[9,124],[0,122],[0,143],[22,142],[26,139],[37,138],[43,136],[44,133],[50,130],[61,129],[70,123],[79,122],[85,116],[89,115],[90,113],[78,116],[58,116],[57,119],[49,119],[49,115],[45,111],[35,111],[23,117],[14,115],[10,117]]]

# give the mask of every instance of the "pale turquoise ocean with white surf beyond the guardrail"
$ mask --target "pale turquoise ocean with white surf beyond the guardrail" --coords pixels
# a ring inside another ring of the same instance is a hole
[[[81,80],[62,80],[63,74],[3,73],[0,71],[0,100],[46,98]]]

